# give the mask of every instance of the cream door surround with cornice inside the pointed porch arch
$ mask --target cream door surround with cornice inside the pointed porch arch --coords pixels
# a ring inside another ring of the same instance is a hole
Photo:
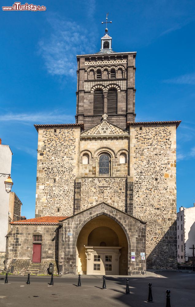
[[[87,256],[87,275],[105,275],[105,270],[100,274],[94,274],[93,270],[92,270],[92,266],[93,266],[93,262],[94,262],[94,255],[112,255],[113,256],[113,270],[112,270],[112,274],[108,274],[108,275],[119,275],[119,258],[120,258],[120,249],[122,247],[121,246],[85,246],[85,250],[86,250],[86,256]],[[101,262],[102,262],[102,258],[101,258]],[[105,260],[103,260],[103,265],[105,264]],[[92,273],[93,272],[93,273]],[[97,272],[98,273],[98,272]]]

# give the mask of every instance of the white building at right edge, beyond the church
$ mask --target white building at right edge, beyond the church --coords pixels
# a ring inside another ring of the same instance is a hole
[[[178,255],[188,256],[195,247],[195,203],[191,208],[180,207],[177,213]]]

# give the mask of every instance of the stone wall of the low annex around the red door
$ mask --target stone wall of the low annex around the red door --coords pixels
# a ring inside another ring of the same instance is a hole
[[[55,258],[55,262],[58,263],[58,231],[55,225],[12,226],[12,230],[7,235],[6,267],[9,267],[13,258],[32,261],[33,235],[36,234],[42,235],[41,259]]]

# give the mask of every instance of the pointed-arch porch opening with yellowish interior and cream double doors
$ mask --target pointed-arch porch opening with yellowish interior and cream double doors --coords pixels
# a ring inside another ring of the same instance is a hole
[[[112,218],[100,215],[86,223],[76,246],[78,274],[127,274],[127,237]]]

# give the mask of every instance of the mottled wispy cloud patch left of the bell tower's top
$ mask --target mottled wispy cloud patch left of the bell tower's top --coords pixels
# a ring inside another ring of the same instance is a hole
[[[93,14],[95,2],[90,3],[90,12]],[[76,77],[75,54],[93,53],[93,37],[75,21],[62,21],[52,16],[48,22],[51,26],[50,36],[39,41],[39,52],[48,73]]]

